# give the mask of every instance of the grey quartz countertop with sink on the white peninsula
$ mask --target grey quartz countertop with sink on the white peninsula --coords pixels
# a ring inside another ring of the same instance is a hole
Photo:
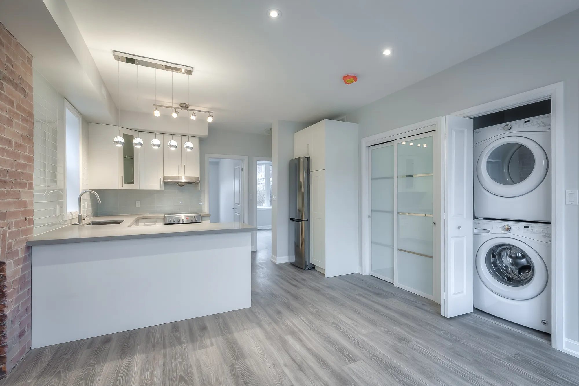
[[[208,214],[201,214],[208,216]],[[234,233],[256,231],[255,226],[240,222],[203,222],[197,224],[170,224],[134,226],[138,219],[162,218],[163,215],[97,216],[91,221],[123,220],[113,225],[67,225],[28,240],[27,245],[68,244],[72,242],[130,240],[133,238],[194,236],[196,234]]]

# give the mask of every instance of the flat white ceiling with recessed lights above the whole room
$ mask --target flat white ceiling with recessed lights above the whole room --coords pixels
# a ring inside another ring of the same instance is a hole
[[[112,50],[194,67],[192,76],[175,74],[175,104],[214,110],[211,127],[255,133],[276,119],[335,117],[579,8],[577,0],[67,4],[117,105]],[[280,9],[281,18],[267,17],[270,8]],[[386,47],[390,57],[382,55]],[[120,108],[134,111],[137,66],[120,66]],[[358,76],[356,84],[342,82],[348,73]],[[142,112],[152,111],[153,76],[153,69],[140,67]],[[170,78],[157,71],[157,101],[171,102]]]

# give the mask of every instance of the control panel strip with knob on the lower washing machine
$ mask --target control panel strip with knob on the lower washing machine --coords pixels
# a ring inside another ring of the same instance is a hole
[[[499,233],[551,242],[551,224],[508,220],[474,220],[474,234]]]

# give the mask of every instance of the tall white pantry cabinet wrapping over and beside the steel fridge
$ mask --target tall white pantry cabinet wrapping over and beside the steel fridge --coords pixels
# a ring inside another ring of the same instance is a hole
[[[358,124],[325,119],[294,134],[294,157],[310,157],[312,264],[325,277],[358,272]]]

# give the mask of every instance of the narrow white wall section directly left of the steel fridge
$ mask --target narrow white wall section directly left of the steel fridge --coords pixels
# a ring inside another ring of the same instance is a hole
[[[272,125],[272,259],[288,259],[290,242],[290,160],[294,158],[294,133],[309,123],[277,120]],[[254,186],[257,185],[254,176]],[[255,204],[254,204],[255,205]],[[275,256],[275,257],[273,257]]]

